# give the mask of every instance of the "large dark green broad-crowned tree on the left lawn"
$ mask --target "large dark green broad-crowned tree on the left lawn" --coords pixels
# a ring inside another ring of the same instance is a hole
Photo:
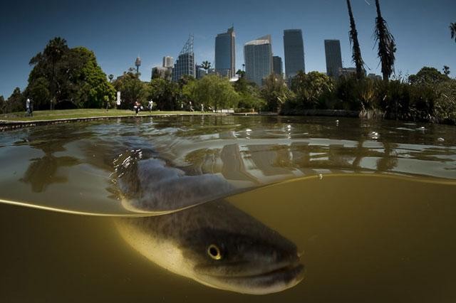
[[[52,109],[63,102],[73,107],[102,107],[105,100],[115,99],[115,90],[95,54],[83,47],[68,48],[63,38],[49,41],[30,65],[25,94],[36,109]]]

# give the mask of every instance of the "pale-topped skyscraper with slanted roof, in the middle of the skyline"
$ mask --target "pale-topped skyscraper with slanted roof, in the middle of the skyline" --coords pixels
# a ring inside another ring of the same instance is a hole
[[[262,85],[262,80],[272,73],[271,35],[244,44],[245,75]]]

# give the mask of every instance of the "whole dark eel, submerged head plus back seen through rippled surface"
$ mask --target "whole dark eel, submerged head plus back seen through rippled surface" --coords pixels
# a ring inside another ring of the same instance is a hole
[[[185,176],[140,156],[120,163],[124,205],[152,216],[115,223],[148,260],[202,285],[244,294],[281,292],[303,280],[296,245],[220,198],[234,192],[221,177]]]

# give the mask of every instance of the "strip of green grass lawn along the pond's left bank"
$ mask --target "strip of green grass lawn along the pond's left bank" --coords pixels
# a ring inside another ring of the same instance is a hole
[[[202,115],[201,112],[160,112],[160,111],[142,111],[140,116],[147,115]],[[135,116],[132,110],[36,110],[33,117],[26,117],[25,112],[12,112],[6,115],[0,115],[0,120],[6,121],[39,121],[53,119],[71,119],[71,118],[92,118],[92,117],[118,117],[118,116]]]

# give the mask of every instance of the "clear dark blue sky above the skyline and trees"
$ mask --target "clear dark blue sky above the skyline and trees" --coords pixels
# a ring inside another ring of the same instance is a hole
[[[351,0],[351,5],[368,73],[380,74],[375,0]],[[397,44],[397,74],[448,65],[456,75],[456,43],[449,29],[456,22],[455,0],[380,0],[380,6]],[[107,75],[121,75],[140,55],[141,78],[147,81],[163,56],[177,58],[190,33],[196,62],[213,65],[215,36],[232,25],[237,69],[244,63],[244,43],[266,34],[274,55],[283,59],[283,33],[289,28],[303,31],[306,72],[326,72],[325,39],[339,39],[343,66],[353,66],[345,0],[1,1],[0,95],[9,97],[14,87],[24,90],[28,62],[56,36],[70,47],[93,50]]]

